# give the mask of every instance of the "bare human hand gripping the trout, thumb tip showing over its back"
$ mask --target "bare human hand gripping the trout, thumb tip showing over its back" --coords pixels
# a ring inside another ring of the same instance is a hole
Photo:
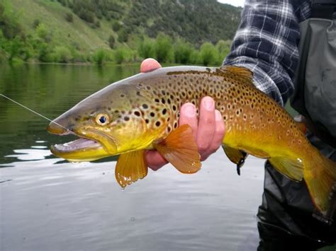
[[[141,63],[140,71],[144,73],[160,67],[161,65],[155,59],[145,59]],[[206,160],[222,144],[225,125],[222,115],[218,110],[215,110],[215,101],[211,97],[202,98],[199,107],[199,121],[195,105],[191,103],[182,105],[179,117],[179,125],[181,124],[189,124],[193,130],[201,160]],[[167,160],[155,150],[146,152],[146,160],[148,167],[152,170],[158,170],[167,164]]]

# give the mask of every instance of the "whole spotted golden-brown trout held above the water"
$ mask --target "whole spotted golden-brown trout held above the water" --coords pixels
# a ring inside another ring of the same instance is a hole
[[[210,96],[225,122],[223,149],[238,170],[249,154],[267,159],[289,179],[304,180],[313,204],[326,214],[336,163],[312,146],[301,126],[252,80],[252,72],[238,66],[164,67],[125,78],[50,122],[48,132],[79,137],[50,150],[74,162],[119,155],[115,174],[121,187],[147,175],[149,149],[181,173],[196,173],[201,169],[198,146],[191,127],[179,125],[179,109],[187,102],[198,107]]]

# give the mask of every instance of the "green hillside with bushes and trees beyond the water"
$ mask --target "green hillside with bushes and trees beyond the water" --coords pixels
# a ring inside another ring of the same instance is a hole
[[[163,61],[217,63],[240,11],[215,0],[0,0],[0,62],[135,62],[168,45]]]

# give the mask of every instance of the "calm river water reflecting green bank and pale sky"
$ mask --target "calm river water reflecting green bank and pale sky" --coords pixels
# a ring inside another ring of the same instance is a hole
[[[138,66],[0,66],[0,93],[51,119]],[[256,250],[264,160],[238,176],[221,149],[194,175],[172,165],[126,189],[116,158],[67,163],[48,122],[0,97],[0,250]]]

